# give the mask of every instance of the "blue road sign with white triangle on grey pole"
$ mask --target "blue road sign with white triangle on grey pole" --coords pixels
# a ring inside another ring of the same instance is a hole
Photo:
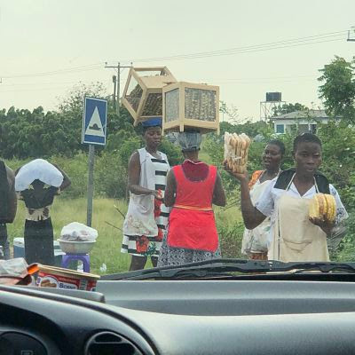
[[[92,199],[94,194],[95,146],[106,145],[107,101],[84,98],[82,143],[89,145],[88,205],[86,225],[92,223]]]

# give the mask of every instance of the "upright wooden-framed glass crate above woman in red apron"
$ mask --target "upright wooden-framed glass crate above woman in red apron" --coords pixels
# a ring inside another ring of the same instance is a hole
[[[201,99],[188,99],[186,89],[187,92],[190,91],[193,93],[193,91],[195,91],[196,94],[199,93],[199,91],[200,93],[203,91],[205,93],[204,95],[207,95],[206,99],[209,100],[209,105],[201,109]],[[188,106],[190,106],[190,109]],[[193,110],[195,114],[188,114],[188,111],[192,112]],[[208,119],[198,119],[198,112],[200,112],[200,115],[208,117]],[[217,131],[217,134],[219,134],[219,87],[202,83],[186,82],[166,85],[162,88],[162,113],[163,133],[170,131],[183,132],[185,128],[188,128],[198,129],[201,133]],[[194,117],[189,118],[189,115]]]

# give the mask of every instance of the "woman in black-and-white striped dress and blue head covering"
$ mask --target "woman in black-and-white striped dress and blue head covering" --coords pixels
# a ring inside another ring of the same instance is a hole
[[[158,151],[162,119],[142,123],[144,148],[130,156],[128,166],[130,203],[123,222],[122,253],[131,255],[130,271],[144,269],[147,257],[156,266],[170,209],[163,201],[168,157]]]

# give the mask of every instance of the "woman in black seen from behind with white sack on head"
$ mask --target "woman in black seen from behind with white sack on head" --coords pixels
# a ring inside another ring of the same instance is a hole
[[[16,172],[15,190],[25,202],[25,258],[28,264],[54,264],[51,204],[70,185],[67,174],[43,159],[28,162]]]

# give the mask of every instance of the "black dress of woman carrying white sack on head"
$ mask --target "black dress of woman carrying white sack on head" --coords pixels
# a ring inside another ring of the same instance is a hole
[[[54,196],[59,193],[59,188],[51,186],[44,190],[42,198],[36,196],[34,190],[24,190],[20,193],[20,199],[25,201],[28,215],[36,215],[35,220],[26,219],[25,222],[25,258],[28,264],[54,264],[53,226],[49,217],[49,207]],[[38,209],[41,209],[40,214],[37,213]]]

